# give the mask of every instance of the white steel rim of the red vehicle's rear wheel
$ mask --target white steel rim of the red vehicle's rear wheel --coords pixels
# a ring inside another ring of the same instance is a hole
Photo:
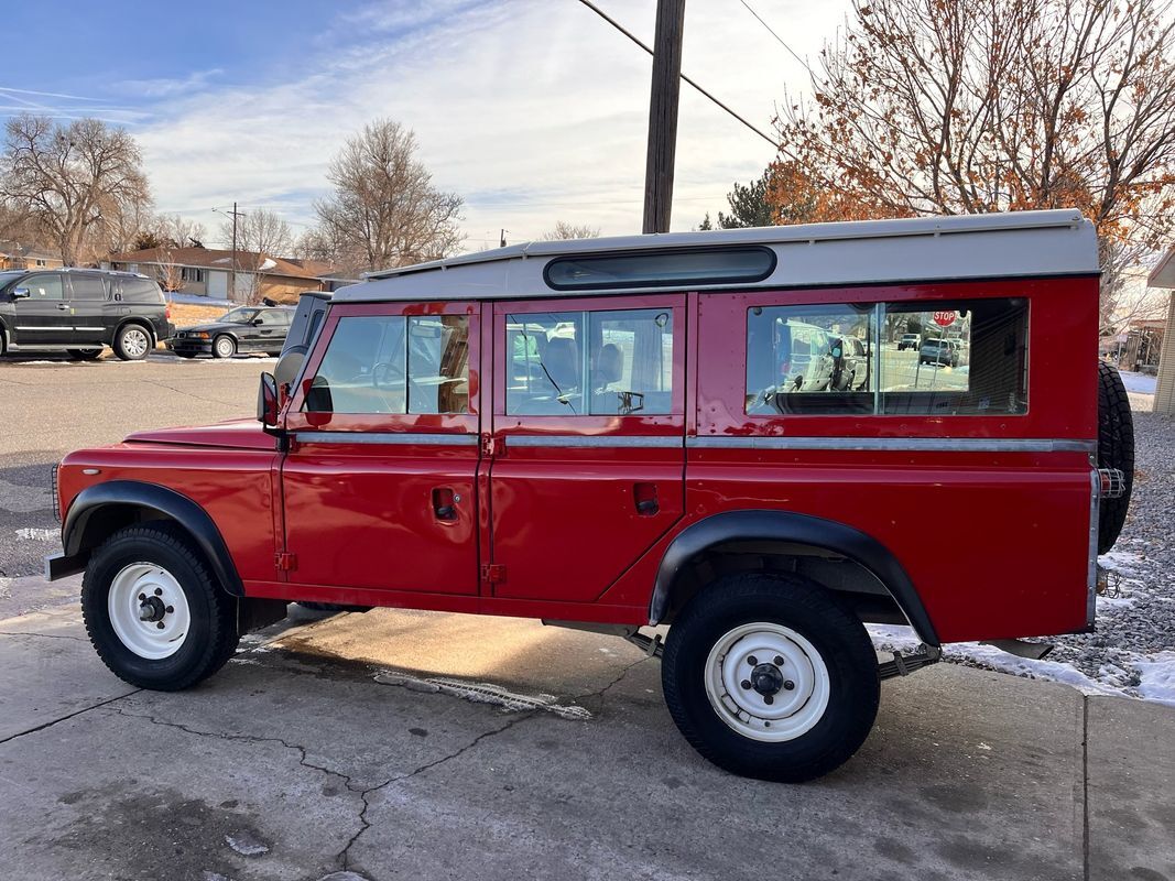
[[[824,658],[781,624],[756,621],[728,631],[710,650],[704,675],[706,698],[718,718],[751,740],[794,740],[828,708],[831,684]],[[754,685],[744,687],[756,679],[768,694]]]

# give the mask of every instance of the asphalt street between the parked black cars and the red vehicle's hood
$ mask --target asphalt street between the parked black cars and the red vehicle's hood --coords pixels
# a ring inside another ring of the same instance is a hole
[[[51,469],[67,452],[133,431],[249,416],[273,358],[121,362],[0,358],[0,577],[40,572],[60,546]]]

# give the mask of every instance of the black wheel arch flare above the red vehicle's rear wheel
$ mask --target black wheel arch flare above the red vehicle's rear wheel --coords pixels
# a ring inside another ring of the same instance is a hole
[[[671,623],[706,584],[743,571],[799,572],[851,598],[862,620],[908,623],[924,643],[939,645],[913,581],[885,545],[847,524],[794,511],[726,511],[683,530],[662,557],[650,624]]]

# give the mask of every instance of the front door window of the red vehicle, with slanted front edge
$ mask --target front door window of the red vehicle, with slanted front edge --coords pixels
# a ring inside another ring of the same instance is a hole
[[[469,318],[340,318],[303,409],[389,415],[469,412]]]

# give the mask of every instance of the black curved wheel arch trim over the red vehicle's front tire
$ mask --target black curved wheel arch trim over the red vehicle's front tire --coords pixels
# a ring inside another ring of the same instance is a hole
[[[85,560],[109,536],[139,523],[176,524],[193,540],[227,593],[244,586],[220,530],[199,504],[175,490],[140,480],[108,480],[87,486],[66,513],[61,544],[67,557]]]

